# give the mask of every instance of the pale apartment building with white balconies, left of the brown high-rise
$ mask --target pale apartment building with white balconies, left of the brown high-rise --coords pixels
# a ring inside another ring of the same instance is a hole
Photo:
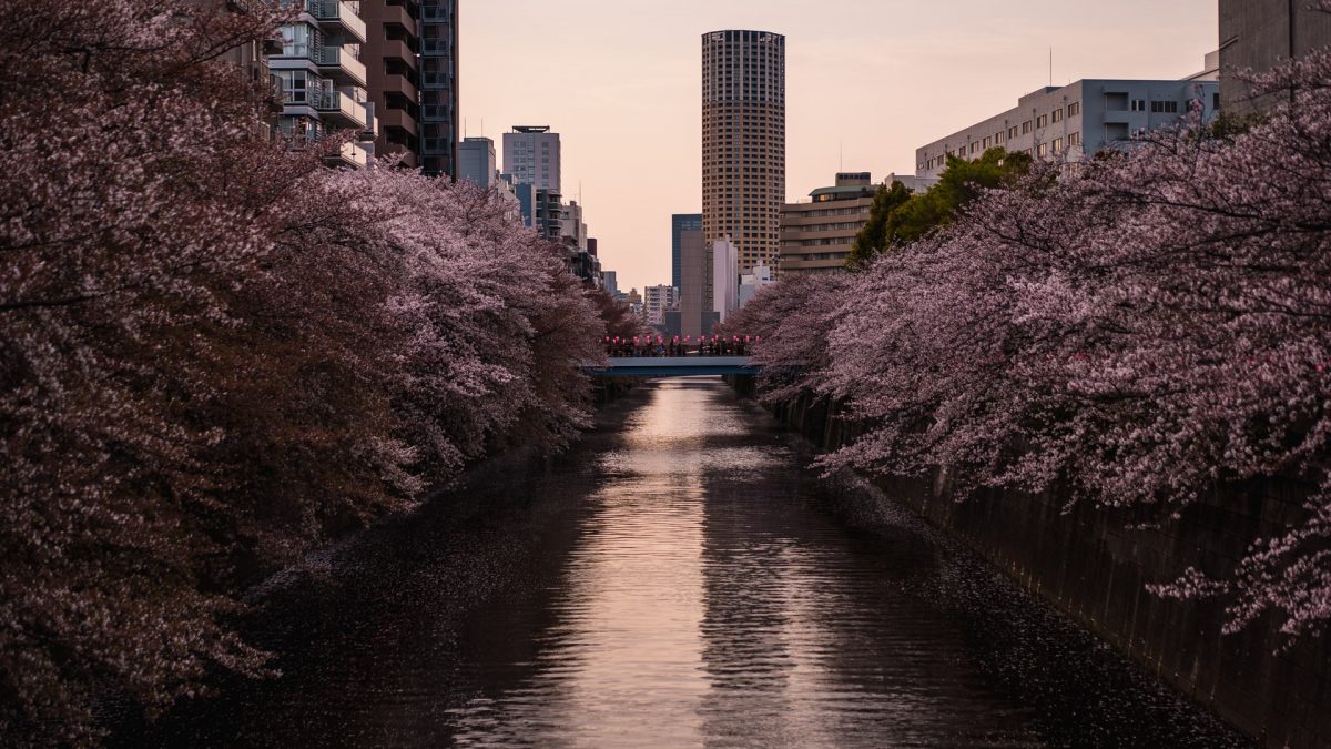
[[[353,3],[282,0],[282,7],[291,5],[301,13],[282,25],[282,47],[274,48],[268,60],[282,88],[277,127],[295,145],[317,143],[331,131],[355,131],[358,137],[331,160],[343,167],[366,167],[374,144],[361,133],[374,133],[375,123],[359,59],[367,33],[365,21]]]

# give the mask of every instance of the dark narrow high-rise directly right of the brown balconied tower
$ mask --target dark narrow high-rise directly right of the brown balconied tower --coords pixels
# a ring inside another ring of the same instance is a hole
[[[425,173],[457,179],[458,129],[458,0],[421,0],[421,168]]]

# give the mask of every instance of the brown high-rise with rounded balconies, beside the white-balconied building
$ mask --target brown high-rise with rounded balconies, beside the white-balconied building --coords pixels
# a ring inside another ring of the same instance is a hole
[[[346,3],[345,3],[346,4]],[[361,0],[367,27],[361,47],[379,137],[379,156],[421,165],[421,1]]]

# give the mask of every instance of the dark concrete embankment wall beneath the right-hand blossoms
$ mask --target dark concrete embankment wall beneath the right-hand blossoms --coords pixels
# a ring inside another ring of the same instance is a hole
[[[851,437],[825,402],[773,412],[823,449]],[[989,492],[958,502],[940,476],[880,485],[1262,745],[1331,746],[1331,634],[1282,649],[1267,618],[1222,636],[1222,604],[1167,601],[1145,589],[1189,566],[1231,569],[1252,540],[1303,517],[1307,486],[1272,480],[1225,488],[1167,528],[1137,530],[1126,528],[1129,517],[1086,504],[1065,513],[1055,493]]]

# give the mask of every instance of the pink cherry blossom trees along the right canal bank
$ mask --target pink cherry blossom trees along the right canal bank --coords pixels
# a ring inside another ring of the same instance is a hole
[[[812,388],[861,422],[829,466],[945,468],[962,494],[1057,489],[1150,524],[1246,480],[1303,480],[1304,522],[1157,592],[1227,596],[1231,632],[1267,613],[1322,632],[1331,53],[1256,83],[1292,104],[1238,135],[1193,119],[1037,167],[856,273],[835,312],[783,281],[759,356],[815,364],[773,394]],[[829,321],[825,353],[784,336],[791,320]]]

